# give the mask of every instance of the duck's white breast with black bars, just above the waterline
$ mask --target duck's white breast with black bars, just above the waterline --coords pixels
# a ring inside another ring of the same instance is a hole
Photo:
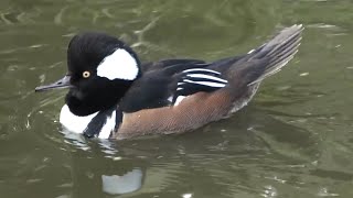
[[[116,129],[117,110],[110,108],[96,111],[88,116],[76,116],[65,105],[60,113],[60,122],[65,129],[75,133],[83,133],[88,138],[108,139]],[[119,123],[119,122],[118,122]]]

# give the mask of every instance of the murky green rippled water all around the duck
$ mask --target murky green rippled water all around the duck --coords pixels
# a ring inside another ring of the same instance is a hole
[[[349,0],[2,0],[1,197],[352,197]],[[303,23],[300,52],[253,102],[197,132],[121,142],[61,133],[69,38],[99,30],[142,61],[245,53]]]

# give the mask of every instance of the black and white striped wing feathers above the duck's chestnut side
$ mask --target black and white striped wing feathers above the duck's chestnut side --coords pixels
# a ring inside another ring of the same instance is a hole
[[[222,74],[205,68],[192,68],[182,72],[182,76],[176,85],[176,90],[172,98],[172,103],[178,103],[185,97],[200,92],[211,92],[227,85],[227,80],[222,77]]]

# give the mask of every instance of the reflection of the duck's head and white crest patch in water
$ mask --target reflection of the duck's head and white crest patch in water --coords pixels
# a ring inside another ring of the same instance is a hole
[[[121,195],[141,188],[146,172],[143,161],[125,156],[124,151],[111,147],[114,144],[103,144],[99,141],[85,144],[88,150],[73,144],[77,150],[71,154],[75,197]]]

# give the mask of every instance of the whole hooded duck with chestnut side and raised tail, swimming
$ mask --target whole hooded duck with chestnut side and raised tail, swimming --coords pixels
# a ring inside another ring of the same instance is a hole
[[[68,88],[60,122],[86,138],[195,131],[247,106],[261,81],[293,58],[302,30],[301,24],[284,28],[248,53],[214,62],[147,63],[119,38],[85,32],[69,41],[66,75],[35,91]]]

